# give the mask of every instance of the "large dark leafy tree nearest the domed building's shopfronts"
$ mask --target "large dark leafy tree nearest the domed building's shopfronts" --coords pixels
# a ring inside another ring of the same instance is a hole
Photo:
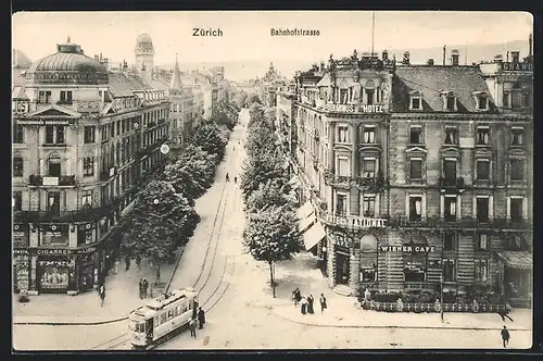
[[[152,180],[139,194],[128,222],[121,245],[123,253],[152,260],[160,283],[161,264],[192,236],[199,216],[174,186]]]

